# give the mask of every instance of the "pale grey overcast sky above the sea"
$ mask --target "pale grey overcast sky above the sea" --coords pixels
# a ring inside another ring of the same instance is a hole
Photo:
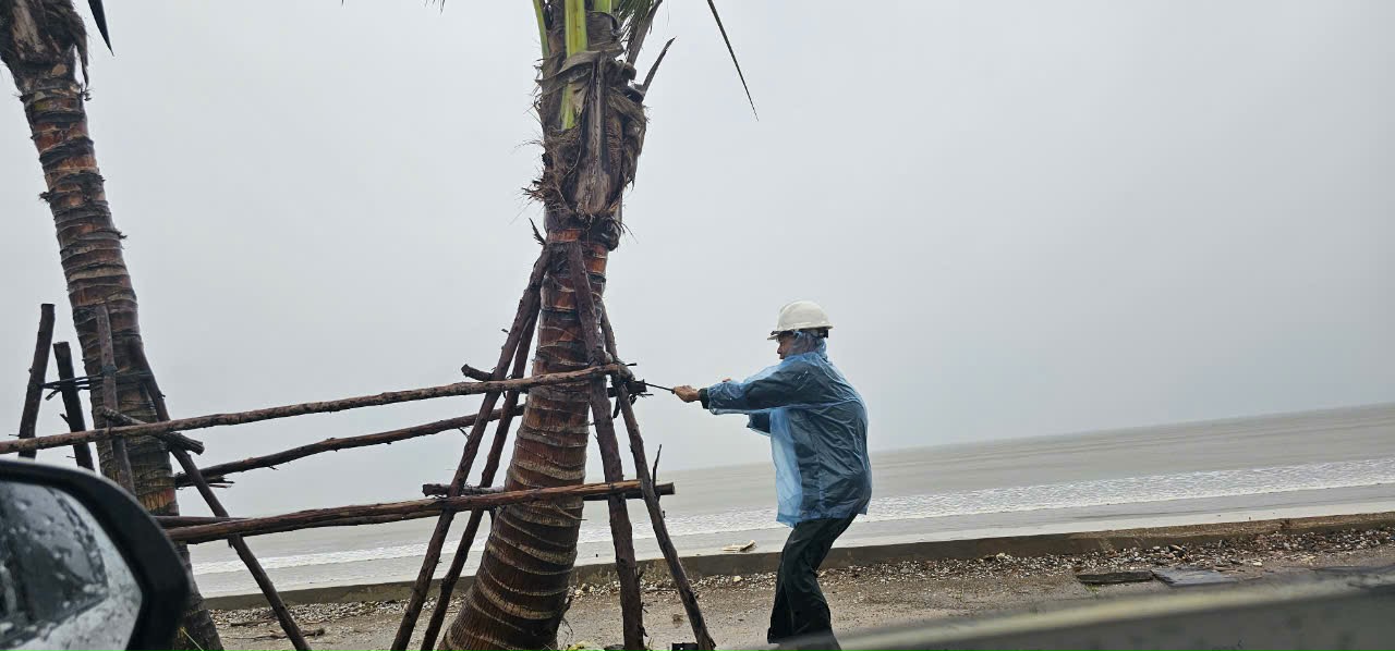
[[[640,376],[748,375],[774,360],[776,309],[812,298],[875,449],[1395,400],[1395,4],[721,4],[760,121],[704,3],[667,3],[642,60],[678,36],[610,266]],[[88,110],[176,417],[494,361],[537,248],[526,3],[169,0],[110,21]],[[71,319],[13,99],[0,178],[14,424],[38,304],[63,339]],[[208,464],[474,404],[195,436]],[[640,418],[670,468],[767,456],[742,418],[670,396]],[[226,499],[406,499],[459,449],[319,456]]]

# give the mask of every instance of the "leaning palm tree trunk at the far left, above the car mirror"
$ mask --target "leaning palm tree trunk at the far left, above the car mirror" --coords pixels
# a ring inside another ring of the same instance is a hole
[[[53,212],[63,273],[68,286],[73,322],[82,347],[88,375],[99,375],[100,344],[93,307],[106,305],[112,321],[117,372],[133,372],[131,347],[140,346],[135,291],[121,255],[121,233],[112,222],[102,176],[88,137],[85,89],[77,81],[77,66],[86,63],[86,35],[71,0],[0,0],[0,61],[14,77],[39,151],[47,191],[43,199]],[[140,383],[120,382],[117,404],[131,417],[155,421]],[[103,407],[100,392],[92,392],[92,408]],[[102,418],[96,417],[96,422]],[[98,445],[102,470],[112,475],[112,446]],[[169,456],[158,439],[130,441],[128,454],[141,505],[156,516],[177,516],[174,481]],[[188,563],[188,552],[180,545]],[[176,648],[222,648],[204,599],[195,588],[184,616],[184,631]]]

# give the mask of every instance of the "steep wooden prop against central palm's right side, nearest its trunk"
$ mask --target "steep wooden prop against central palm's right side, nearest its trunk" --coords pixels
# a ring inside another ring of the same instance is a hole
[[[601,350],[600,312],[591,294],[591,275],[586,268],[582,247],[573,244],[568,247],[569,268],[572,275],[573,300],[576,301],[576,318],[582,322],[582,342],[593,365],[600,365],[605,360]],[[611,421],[611,404],[605,396],[605,378],[590,382],[591,421],[596,424],[596,442],[601,450],[601,468],[605,481],[618,481],[624,477],[624,466],[619,460],[619,443],[615,439],[615,422]],[[619,577],[619,608],[624,623],[625,651],[644,651],[644,602],[639,591],[639,570],[635,560],[635,530],[629,521],[629,509],[625,498],[612,495],[610,498],[611,539],[615,544],[615,574]]]

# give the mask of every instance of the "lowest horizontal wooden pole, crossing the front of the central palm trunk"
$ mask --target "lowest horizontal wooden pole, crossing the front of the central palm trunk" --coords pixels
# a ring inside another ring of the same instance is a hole
[[[506,491],[487,495],[462,495],[458,498],[336,506],[331,509],[310,509],[294,513],[283,513],[279,516],[248,517],[244,520],[201,524],[197,527],[180,527],[170,530],[169,534],[170,539],[176,542],[197,544],[223,539],[230,535],[262,535],[279,534],[282,531],[296,531],[317,526],[339,527],[345,524],[364,524],[363,521],[359,521],[364,517],[402,516],[402,520],[412,520],[467,509],[494,509],[508,505],[551,502],[575,498],[585,499],[589,495],[625,493],[638,489],[638,481],[617,481],[605,484],[582,484],[575,487],[530,488],[525,491]],[[346,520],[349,521],[346,523]]]

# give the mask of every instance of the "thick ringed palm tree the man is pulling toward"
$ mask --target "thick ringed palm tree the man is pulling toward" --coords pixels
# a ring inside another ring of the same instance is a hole
[[[643,82],[633,82],[633,64],[661,1],[533,1],[543,46],[537,114],[544,135],[543,173],[530,194],[545,209],[547,238],[580,241],[590,272],[578,279],[565,265],[548,270],[534,375],[587,365],[573,291],[591,291],[598,301],[607,256],[619,245],[621,198],[635,180],[644,144],[643,99],[653,81],[651,68]],[[716,7],[711,11],[716,17]],[[660,60],[663,53],[656,67]],[[585,383],[531,389],[505,488],[580,484],[589,408]],[[566,608],[580,516],[580,500],[504,509],[441,648],[551,647]]]

